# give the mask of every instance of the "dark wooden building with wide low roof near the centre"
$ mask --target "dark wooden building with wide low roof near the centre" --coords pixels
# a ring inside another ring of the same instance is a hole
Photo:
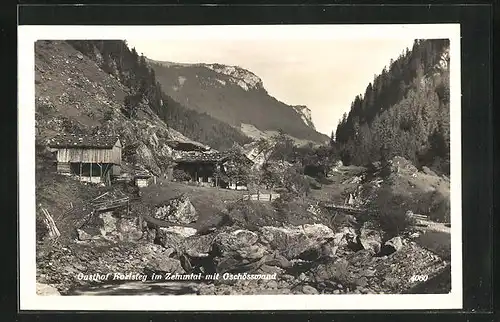
[[[188,152],[175,160],[174,170],[182,170],[190,181],[203,186],[238,189],[246,182],[228,176],[230,167],[243,166],[250,169],[253,162],[246,156],[234,152]]]

